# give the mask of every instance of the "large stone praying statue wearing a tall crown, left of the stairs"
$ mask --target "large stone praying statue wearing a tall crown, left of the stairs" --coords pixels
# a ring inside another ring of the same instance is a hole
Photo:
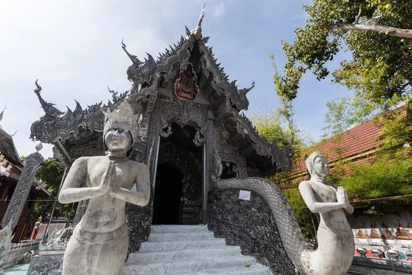
[[[128,159],[139,116],[126,101],[104,115],[106,156],[76,159],[58,197],[60,203],[89,199],[67,244],[63,275],[121,274],[128,250],[126,202],[146,206],[150,198],[148,166]],[[87,187],[80,187],[84,180]]]

